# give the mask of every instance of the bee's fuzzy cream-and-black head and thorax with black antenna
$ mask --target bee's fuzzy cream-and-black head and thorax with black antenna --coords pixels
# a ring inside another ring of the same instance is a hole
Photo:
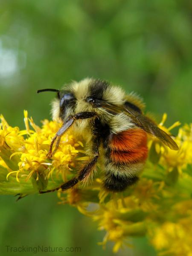
[[[106,116],[110,113],[109,105],[122,105],[125,102],[124,91],[101,79],[86,78],[64,85],[61,90],[43,89],[38,93],[43,91],[57,93],[52,101],[52,118],[61,118],[62,121],[78,112],[97,112]]]

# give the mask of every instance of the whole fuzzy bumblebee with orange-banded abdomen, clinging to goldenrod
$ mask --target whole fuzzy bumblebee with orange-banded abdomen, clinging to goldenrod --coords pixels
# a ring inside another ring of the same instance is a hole
[[[55,188],[66,190],[78,182],[87,181],[102,155],[105,164],[103,187],[106,191],[124,191],[139,179],[148,156],[147,134],[160,139],[172,150],[178,150],[173,139],[154,121],[143,114],[144,104],[134,94],[126,95],[122,88],[100,79],[83,79],[55,91],[52,118],[60,118],[62,127],[52,138],[48,157],[58,148],[64,132],[73,128],[87,134],[90,160],[69,181]],[[55,150],[52,150],[55,143]],[[49,191],[40,191],[45,193]]]

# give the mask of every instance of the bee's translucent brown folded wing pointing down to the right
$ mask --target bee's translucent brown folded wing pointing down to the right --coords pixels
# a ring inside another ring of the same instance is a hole
[[[141,110],[132,103],[125,102],[125,104],[122,105],[122,107],[116,107],[109,103],[103,103],[102,107],[109,111],[111,114],[118,114],[120,112],[124,112],[132,119],[133,123],[136,126],[140,127],[145,132],[148,132],[149,134],[159,138],[160,141],[162,141],[170,149],[179,149],[175,141],[166,132],[157,127],[157,124],[155,124],[154,121],[143,115]]]

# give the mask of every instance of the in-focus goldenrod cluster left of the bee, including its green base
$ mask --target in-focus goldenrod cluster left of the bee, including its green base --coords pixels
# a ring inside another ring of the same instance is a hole
[[[66,133],[52,160],[47,159],[49,144],[61,124],[44,120],[40,128],[27,115],[24,111],[26,129],[21,131],[18,127],[10,127],[3,115],[0,116],[1,194],[20,194],[23,197],[56,188],[73,174],[75,163],[87,158],[76,159],[80,151],[84,152],[83,144]]]

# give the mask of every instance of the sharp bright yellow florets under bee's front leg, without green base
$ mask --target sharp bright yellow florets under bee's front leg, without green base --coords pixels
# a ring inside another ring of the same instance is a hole
[[[28,118],[27,111],[24,111],[26,129],[20,131],[18,127],[10,127],[2,115],[0,119],[2,128],[0,129],[0,163],[2,167],[8,167],[6,174],[8,182],[12,175],[22,184],[29,179],[38,181],[40,177],[42,182],[49,178],[55,182],[53,176],[60,183],[67,179],[66,175],[70,174],[71,168],[75,166],[74,159],[79,153],[78,148],[80,147],[81,150],[83,144],[72,134],[67,133],[62,136],[52,160],[47,159],[49,144],[61,123],[45,120],[43,127],[40,128],[32,118]]]

